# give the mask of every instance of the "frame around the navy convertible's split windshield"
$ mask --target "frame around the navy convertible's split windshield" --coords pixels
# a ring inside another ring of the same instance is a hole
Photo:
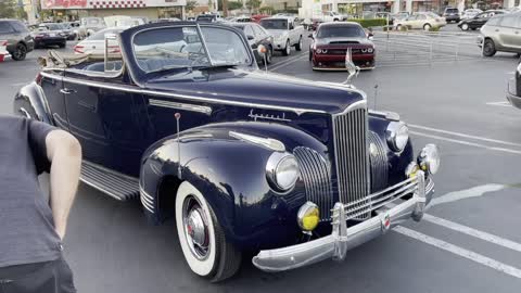
[[[206,58],[208,59],[209,66],[208,65],[179,66],[179,67],[173,67],[173,68],[164,68],[164,69],[158,69],[158,71],[152,71],[152,72],[148,72],[148,71],[145,71],[145,69],[143,69],[139,66],[139,62],[138,62],[138,59],[136,56],[136,51],[135,51],[135,48],[134,48],[134,39],[137,35],[139,35],[141,33],[144,33],[144,31],[149,31],[149,30],[155,30],[155,29],[185,28],[185,27],[192,27],[192,28],[195,28],[195,30],[198,31],[198,36],[201,39],[201,43],[202,43],[202,46],[205,50]],[[255,56],[252,52],[252,49],[251,49],[250,44],[246,42],[246,39],[244,37],[244,33],[241,29],[232,27],[232,26],[217,25],[217,24],[213,24],[213,23],[206,23],[206,24],[182,23],[182,24],[175,24],[175,25],[173,25],[171,23],[163,23],[162,25],[155,24],[152,27],[135,30],[129,38],[129,42],[125,43],[125,46],[129,47],[129,53],[132,55],[131,61],[132,61],[134,64],[131,66],[136,67],[141,73],[139,75],[143,76],[143,77],[144,76],[151,76],[151,75],[161,75],[165,72],[175,71],[175,69],[179,71],[179,69],[198,69],[198,67],[201,67],[201,68],[208,68],[209,67],[209,68],[212,68],[212,67],[219,67],[219,66],[231,66],[232,64],[215,63],[212,60],[211,53],[209,53],[208,48],[206,46],[206,39],[204,38],[204,35],[201,30],[202,27],[203,28],[204,27],[211,27],[211,28],[225,29],[225,30],[229,30],[232,34],[238,35],[239,39],[241,40],[242,44],[245,48],[246,54],[249,56],[249,63],[237,64],[237,66],[255,67],[254,66],[256,64],[255,63]],[[130,29],[130,30],[134,30],[134,29]],[[123,50],[123,51],[125,51],[125,50]],[[125,54],[125,52],[123,52],[123,54]],[[233,64],[233,65],[236,65],[236,64]]]

